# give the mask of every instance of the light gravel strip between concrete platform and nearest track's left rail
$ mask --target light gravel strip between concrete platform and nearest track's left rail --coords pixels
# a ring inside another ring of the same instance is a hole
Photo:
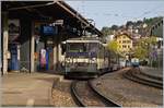
[[[55,107],[78,107],[71,96],[71,82],[72,81],[62,80],[55,84],[52,88],[52,101]]]

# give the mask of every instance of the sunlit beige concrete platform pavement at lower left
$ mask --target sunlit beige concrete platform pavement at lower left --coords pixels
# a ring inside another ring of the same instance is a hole
[[[9,73],[2,76],[2,106],[52,106],[51,87],[61,76],[46,73]]]

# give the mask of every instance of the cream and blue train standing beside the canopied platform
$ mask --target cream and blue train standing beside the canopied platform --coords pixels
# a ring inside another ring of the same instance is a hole
[[[118,70],[118,59],[99,37],[70,38],[66,40],[65,76],[97,77]]]

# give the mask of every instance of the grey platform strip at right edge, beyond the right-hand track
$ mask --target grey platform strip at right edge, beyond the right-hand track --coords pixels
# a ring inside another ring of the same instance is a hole
[[[163,80],[163,69],[157,68],[149,68],[149,67],[140,67],[141,73],[149,75],[151,77]]]

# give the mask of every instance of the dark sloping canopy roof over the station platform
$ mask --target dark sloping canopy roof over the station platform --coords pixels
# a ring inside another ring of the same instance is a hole
[[[56,1],[2,1],[2,12],[9,12],[9,19],[55,21],[63,20],[72,27],[86,29],[92,34],[103,34],[80,13],[62,0]]]

